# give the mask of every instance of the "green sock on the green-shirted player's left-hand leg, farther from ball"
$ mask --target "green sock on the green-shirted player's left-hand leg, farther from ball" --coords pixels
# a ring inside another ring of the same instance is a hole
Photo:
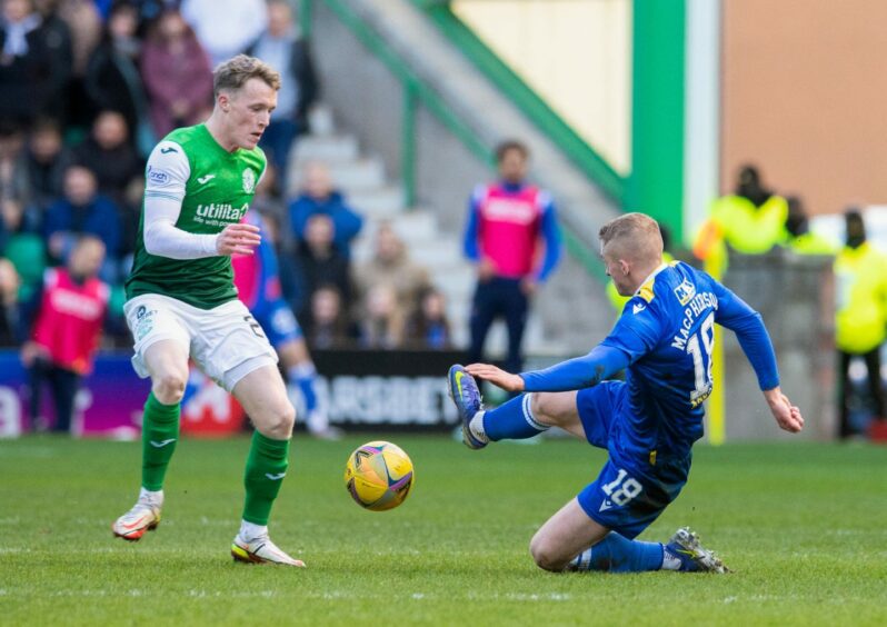
[[[141,485],[146,490],[163,489],[167,466],[179,441],[179,404],[163,405],[155,392],[144,401],[141,427]]]

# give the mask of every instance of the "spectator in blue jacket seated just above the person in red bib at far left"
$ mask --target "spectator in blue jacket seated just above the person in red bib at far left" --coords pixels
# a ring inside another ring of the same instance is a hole
[[[117,207],[98,193],[96,175],[82,166],[64,171],[63,189],[64,196],[49,207],[43,218],[50,258],[56,263],[63,262],[78,236],[93,235],[107,250],[100,278],[108,283],[118,282],[121,227]]]

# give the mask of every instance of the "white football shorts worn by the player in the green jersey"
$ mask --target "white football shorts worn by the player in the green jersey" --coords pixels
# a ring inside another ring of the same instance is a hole
[[[149,376],[144,351],[160,340],[179,342],[203,374],[227,391],[263,366],[277,364],[277,352],[261,326],[239,300],[199,309],[176,298],[144,293],[123,305],[136,340],[132,367]]]

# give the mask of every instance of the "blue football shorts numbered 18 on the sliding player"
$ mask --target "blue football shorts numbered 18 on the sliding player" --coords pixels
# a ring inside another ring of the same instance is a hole
[[[692,456],[614,456],[609,445],[618,441],[628,410],[628,387],[621,381],[579,390],[576,405],[589,444],[610,451],[598,478],[579,492],[579,505],[596,522],[632,539],[680,494]]]

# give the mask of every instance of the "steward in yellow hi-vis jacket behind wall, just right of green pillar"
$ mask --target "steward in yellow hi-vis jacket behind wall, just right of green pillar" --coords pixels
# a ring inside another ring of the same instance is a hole
[[[692,251],[707,267],[727,269],[727,248],[744,255],[761,255],[788,239],[788,205],[760,183],[753,166],[739,172],[736,193],[711,205],[708,220],[696,236]]]

